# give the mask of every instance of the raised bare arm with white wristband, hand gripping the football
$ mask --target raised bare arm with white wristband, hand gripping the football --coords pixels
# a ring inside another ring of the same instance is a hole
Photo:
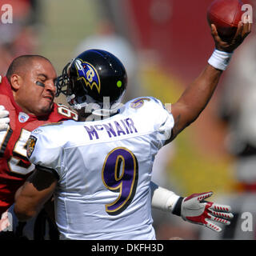
[[[240,22],[233,40],[224,42],[218,36],[216,27],[212,24],[211,34],[215,43],[214,54],[209,59],[205,70],[186,88],[178,102],[171,105],[170,112],[174,116],[174,129],[170,141],[191,122],[194,122],[202,110],[205,109],[218,85],[222,71],[226,70],[226,66],[230,62],[232,53],[250,34],[250,30],[250,23],[243,24]]]

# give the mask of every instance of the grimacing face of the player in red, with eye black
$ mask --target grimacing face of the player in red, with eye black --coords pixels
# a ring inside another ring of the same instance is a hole
[[[15,100],[27,114],[49,114],[53,106],[57,78],[54,66],[44,59],[34,60],[21,78]]]

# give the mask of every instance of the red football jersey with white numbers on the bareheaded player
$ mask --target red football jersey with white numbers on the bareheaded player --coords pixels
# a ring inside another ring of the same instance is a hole
[[[0,77],[1,78],[1,77]],[[29,93],[29,92],[28,92]],[[62,104],[54,103],[53,110],[45,117],[36,117],[22,112],[14,102],[7,78],[0,83],[0,105],[10,112],[10,129],[0,132],[0,217],[14,202],[15,192],[34,170],[34,165],[26,158],[26,142],[30,132],[50,122],[60,122],[78,114]]]

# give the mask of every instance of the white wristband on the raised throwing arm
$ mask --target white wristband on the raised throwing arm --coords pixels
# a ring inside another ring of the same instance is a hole
[[[208,63],[217,70],[226,70],[232,55],[233,53],[226,53],[225,51],[215,49],[214,53],[209,58]]]

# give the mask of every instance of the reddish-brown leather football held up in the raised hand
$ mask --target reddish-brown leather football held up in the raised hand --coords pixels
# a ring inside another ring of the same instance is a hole
[[[242,20],[242,1],[214,0],[207,10],[207,20],[217,28],[218,35],[223,41],[234,37],[238,23]]]

